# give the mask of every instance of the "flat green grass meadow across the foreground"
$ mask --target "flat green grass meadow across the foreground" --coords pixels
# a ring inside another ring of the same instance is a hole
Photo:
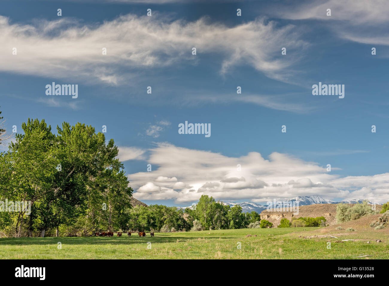
[[[155,237],[1,238],[1,259],[388,259],[387,242],[304,238],[318,227],[155,233]],[[257,235],[246,237],[247,234]],[[301,236],[301,237],[300,237]],[[351,238],[351,237],[350,237]],[[339,239],[349,239],[347,238]],[[331,249],[327,241],[331,240]],[[61,242],[62,249],[58,249]],[[151,249],[147,249],[151,242]],[[237,243],[241,243],[241,249]],[[358,258],[366,259],[366,258]]]

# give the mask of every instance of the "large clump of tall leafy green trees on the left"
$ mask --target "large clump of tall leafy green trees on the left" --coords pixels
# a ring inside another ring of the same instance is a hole
[[[64,122],[57,135],[44,120],[28,119],[22,129],[0,154],[0,195],[30,201],[31,214],[2,212],[0,229],[13,217],[16,237],[55,235],[56,228],[63,235],[89,235],[126,227],[133,190],[112,139],[106,143],[103,133],[81,123]]]

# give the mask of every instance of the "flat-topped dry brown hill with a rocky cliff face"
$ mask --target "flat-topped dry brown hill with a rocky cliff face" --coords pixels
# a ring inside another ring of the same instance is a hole
[[[354,204],[350,204],[354,206]],[[277,227],[280,224],[282,218],[287,218],[291,220],[293,216],[299,218],[303,217],[312,217],[316,218],[318,216],[324,216],[326,218],[326,224],[335,225],[336,224],[336,206],[337,204],[310,204],[308,206],[299,206],[298,214],[294,215],[292,211],[267,211],[266,209],[261,212],[261,220],[268,220],[273,223],[273,227]],[[379,212],[381,210],[381,205],[376,205],[376,209]]]

